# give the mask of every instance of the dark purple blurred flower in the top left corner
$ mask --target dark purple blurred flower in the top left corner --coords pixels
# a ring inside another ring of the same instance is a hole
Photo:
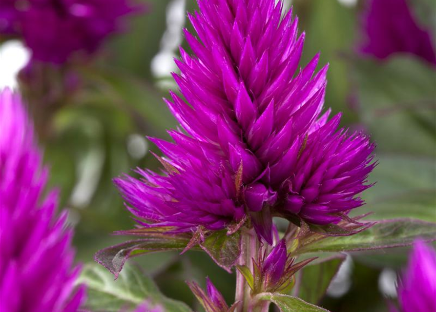
[[[138,7],[127,0],[4,0],[0,34],[21,37],[33,59],[63,63],[74,53],[95,52]]]

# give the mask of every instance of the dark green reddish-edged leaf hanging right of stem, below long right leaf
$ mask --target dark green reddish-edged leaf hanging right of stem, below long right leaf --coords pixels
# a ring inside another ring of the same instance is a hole
[[[309,264],[300,270],[298,297],[313,304],[318,303],[326,293],[345,257],[345,254],[335,255],[318,264]]]

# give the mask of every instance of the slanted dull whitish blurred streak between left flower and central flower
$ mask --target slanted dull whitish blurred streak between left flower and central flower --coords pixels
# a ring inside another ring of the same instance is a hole
[[[100,147],[94,148],[79,163],[78,182],[70,197],[70,203],[73,206],[84,208],[89,204],[99,184],[103,163],[104,151]]]

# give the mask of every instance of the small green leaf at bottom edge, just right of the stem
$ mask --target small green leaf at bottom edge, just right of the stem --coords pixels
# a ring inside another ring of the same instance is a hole
[[[259,298],[270,300],[280,309],[280,312],[328,312],[326,309],[286,294],[263,293],[259,295]]]

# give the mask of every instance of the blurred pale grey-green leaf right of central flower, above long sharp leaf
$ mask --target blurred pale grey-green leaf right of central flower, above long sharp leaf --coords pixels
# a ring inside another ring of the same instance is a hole
[[[377,184],[365,191],[366,205],[357,214],[374,212],[371,218],[436,220],[436,163],[434,157],[378,154],[371,174]],[[400,170],[398,170],[401,168]]]

